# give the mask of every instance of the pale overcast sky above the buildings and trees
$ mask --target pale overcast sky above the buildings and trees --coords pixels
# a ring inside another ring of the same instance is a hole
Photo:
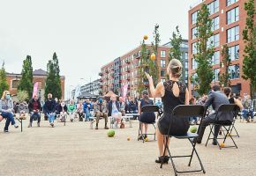
[[[160,25],[162,44],[175,26],[188,37],[188,10],[198,0],[0,0],[0,62],[19,73],[26,55],[46,70],[54,52],[66,91],[98,78],[103,64],[152,40]],[[80,78],[84,78],[83,80]]]

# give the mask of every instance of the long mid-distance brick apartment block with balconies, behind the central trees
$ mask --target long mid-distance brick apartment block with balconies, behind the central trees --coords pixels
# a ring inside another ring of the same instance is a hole
[[[147,46],[150,48],[150,46]],[[166,68],[169,63],[169,43],[158,48],[156,61],[159,70],[159,82],[164,82],[166,79]],[[141,46],[132,49],[128,53],[117,57],[117,59],[102,66],[99,73],[100,88],[102,94],[106,94],[110,90],[121,95],[124,84],[128,84],[128,92],[130,96],[135,96],[139,86],[139,59]],[[183,40],[181,45],[184,60],[184,82],[188,83],[188,45],[187,40]]]

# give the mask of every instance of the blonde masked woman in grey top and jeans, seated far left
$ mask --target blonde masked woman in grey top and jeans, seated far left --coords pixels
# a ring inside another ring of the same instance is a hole
[[[6,119],[4,132],[9,132],[8,128],[11,123],[15,128],[19,128],[19,125],[14,121],[13,115],[13,102],[11,100],[11,94],[9,91],[4,91],[2,99],[0,99],[0,113]]]

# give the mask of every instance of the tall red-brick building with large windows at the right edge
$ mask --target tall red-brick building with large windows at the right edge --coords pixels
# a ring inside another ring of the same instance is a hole
[[[197,52],[195,48],[197,42],[195,35],[197,33],[197,14],[201,4],[207,4],[210,18],[213,19],[212,31],[214,36],[210,39],[215,46],[215,55],[212,59],[213,69],[215,70],[213,84],[219,84],[218,74],[220,72],[220,62],[222,62],[221,50],[222,45],[227,44],[230,50],[232,91],[241,95],[245,92],[250,93],[249,81],[242,78],[245,49],[242,33],[245,28],[246,11],[244,10],[244,4],[246,0],[204,0],[200,2],[200,4],[191,7],[189,11],[189,76],[194,73],[197,67],[197,63],[192,59],[192,55]],[[189,88],[193,94],[193,85],[191,84]]]

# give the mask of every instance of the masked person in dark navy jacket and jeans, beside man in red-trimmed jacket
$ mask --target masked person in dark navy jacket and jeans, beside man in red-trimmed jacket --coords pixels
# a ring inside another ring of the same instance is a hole
[[[44,111],[48,117],[49,125],[54,128],[54,120],[55,120],[55,114],[56,114],[56,102],[54,99],[52,99],[52,94],[49,93],[48,99],[46,100],[44,104]]]

